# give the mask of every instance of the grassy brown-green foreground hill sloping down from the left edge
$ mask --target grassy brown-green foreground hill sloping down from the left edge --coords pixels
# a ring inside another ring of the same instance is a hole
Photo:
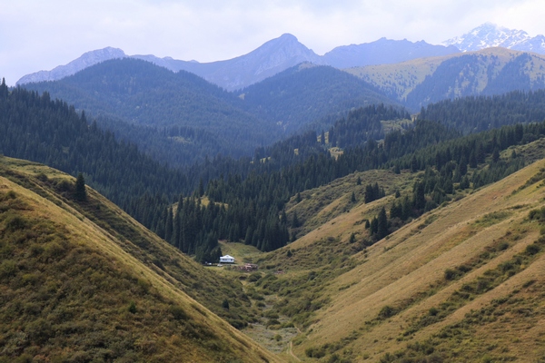
[[[0,157],[0,361],[277,360],[183,291],[212,299],[227,280],[73,185]]]

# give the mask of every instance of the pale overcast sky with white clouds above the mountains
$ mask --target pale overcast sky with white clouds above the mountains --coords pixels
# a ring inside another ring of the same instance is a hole
[[[2,0],[0,77],[13,85],[85,52],[212,62],[284,33],[317,54],[382,36],[431,44],[491,22],[545,33],[543,0]]]

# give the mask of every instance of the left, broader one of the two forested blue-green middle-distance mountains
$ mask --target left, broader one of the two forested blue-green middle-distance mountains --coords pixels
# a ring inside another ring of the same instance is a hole
[[[178,155],[178,163],[185,158],[186,165],[218,152],[247,155],[283,133],[278,125],[244,112],[240,99],[202,78],[141,60],[106,61],[60,81],[27,83],[25,88],[47,91],[93,116],[152,126]],[[127,139],[123,126],[108,126]],[[142,139],[144,135],[130,140],[145,144]]]

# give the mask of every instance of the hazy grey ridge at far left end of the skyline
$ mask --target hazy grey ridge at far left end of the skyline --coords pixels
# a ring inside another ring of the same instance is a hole
[[[124,54],[123,50],[107,46],[102,49],[85,52],[79,58],[74,59],[74,61],[70,62],[69,64],[59,65],[54,67],[54,69],[51,71],[40,71],[34,74],[26,74],[19,81],[17,81],[16,84],[21,85],[25,83],[55,81],[69,75],[76,74],[79,71],[90,67],[91,65],[99,64],[110,59],[124,57],[126,57],[126,54]]]

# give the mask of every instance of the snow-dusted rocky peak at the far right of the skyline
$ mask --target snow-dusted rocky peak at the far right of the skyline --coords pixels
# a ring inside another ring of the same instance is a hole
[[[545,37],[543,35],[532,37],[523,30],[508,29],[491,23],[480,25],[471,32],[449,39],[443,44],[454,45],[462,52],[500,46],[518,51],[545,54]]]

